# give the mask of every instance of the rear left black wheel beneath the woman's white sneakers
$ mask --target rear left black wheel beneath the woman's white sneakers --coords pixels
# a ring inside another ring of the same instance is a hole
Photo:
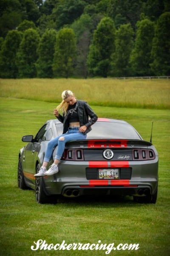
[[[36,173],[40,170],[40,165],[37,165]],[[54,204],[57,203],[57,196],[46,195],[44,191],[44,182],[42,177],[36,178],[35,183],[35,198],[39,204]]]

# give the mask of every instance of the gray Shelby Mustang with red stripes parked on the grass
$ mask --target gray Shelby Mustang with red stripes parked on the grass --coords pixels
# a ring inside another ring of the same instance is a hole
[[[38,203],[57,202],[59,195],[129,195],[139,203],[156,203],[156,148],[121,120],[98,118],[86,140],[66,143],[57,174],[35,178],[48,141],[60,134],[62,123],[52,119],[42,125],[35,137],[22,138],[27,145],[19,152],[18,187],[34,189]],[[55,151],[56,148],[53,158]]]

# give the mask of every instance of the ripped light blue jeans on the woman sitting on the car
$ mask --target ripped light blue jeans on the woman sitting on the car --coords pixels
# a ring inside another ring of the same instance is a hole
[[[60,137],[64,137],[64,140],[59,140]],[[48,142],[47,150],[44,157],[44,162],[50,161],[54,148],[57,145],[58,145],[58,148],[57,148],[55,159],[60,160],[64,152],[66,142],[71,140],[85,140],[86,137],[87,137],[87,134],[83,134],[82,132],[79,132],[79,127],[68,128],[68,132],[66,134],[62,134],[57,138]]]

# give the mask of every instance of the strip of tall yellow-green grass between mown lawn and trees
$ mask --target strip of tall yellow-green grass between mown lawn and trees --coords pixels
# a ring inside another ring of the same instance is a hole
[[[72,90],[90,105],[170,109],[170,79],[0,79],[0,95],[60,102]]]

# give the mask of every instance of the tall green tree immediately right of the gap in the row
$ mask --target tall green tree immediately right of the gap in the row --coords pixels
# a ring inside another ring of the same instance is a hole
[[[108,76],[111,55],[115,51],[115,32],[113,20],[109,17],[102,18],[94,32],[88,54],[88,70],[93,76]]]

